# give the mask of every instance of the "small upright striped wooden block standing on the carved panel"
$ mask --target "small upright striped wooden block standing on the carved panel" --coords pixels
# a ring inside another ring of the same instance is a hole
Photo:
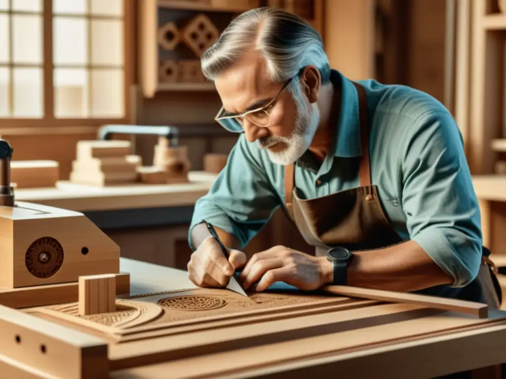
[[[116,311],[116,275],[79,276],[79,314]]]

